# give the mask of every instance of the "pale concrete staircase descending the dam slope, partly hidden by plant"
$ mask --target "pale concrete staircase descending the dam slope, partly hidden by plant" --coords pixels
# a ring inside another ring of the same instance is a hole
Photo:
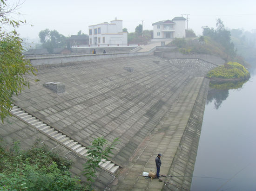
[[[71,139],[65,134],[62,134],[58,130],[55,130],[53,127],[48,126],[43,121],[40,121],[36,117],[29,115],[27,112],[22,110],[21,108],[18,108],[18,106],[12,105],[13,108],[11,109],[11,114],[15,115],[17,118],[19,118],[22,121],[25,121],[32,127],[36,128],[37,130],[44,132],[47,134],[50,138],[54,140],[58,140],[61,142],[61,144],[65,145],[65,147],[72,150],[74,153],[78,153],[79,155],[82,155],[83,157],[86,157],[88,155],[88,150],[85,146],[79,144],[75,140]],[[106,160],[101,159],[101,162],[99,163],[99,166],[101,166],[102,169],[110,171],[112,173],[115,173],[119,166],[115,163]]]

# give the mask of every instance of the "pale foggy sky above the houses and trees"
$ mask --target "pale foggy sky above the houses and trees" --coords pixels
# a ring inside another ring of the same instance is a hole
[[[18,0],[7,0],[17,3]],[[152,30],[152,23],[190,14],[188,28],[197,35],[202,26],[216,27],[216,19],[222,19],[230,29],[256,29],[256,0],[20,0],[19,19],[34,25],[20,26],[18,32],[24,38],[38,38],[41,30],[57,30],[65,36],[78,31],[88,34],[88,26],[117,19],[123,20],[123,28],[134,32],[143,22],[143,29]],[[14,15],[18,18],[18,15]]]

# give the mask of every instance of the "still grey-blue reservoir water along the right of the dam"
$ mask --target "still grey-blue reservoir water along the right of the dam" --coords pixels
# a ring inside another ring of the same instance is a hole
[[[209,92],[191,191],[256,191],[256,70],[242,88]]]

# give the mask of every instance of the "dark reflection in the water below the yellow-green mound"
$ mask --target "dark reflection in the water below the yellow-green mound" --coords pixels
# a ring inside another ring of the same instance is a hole
[[[214,101],[214,108],[220,108],[222,102],[229,96],[229,89],[242,89],[246,82],[210,82],[206,104]]]

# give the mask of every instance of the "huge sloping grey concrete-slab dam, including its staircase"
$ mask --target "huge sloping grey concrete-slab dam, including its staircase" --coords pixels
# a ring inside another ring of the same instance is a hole
[[[100,164],[95,190],[189,190],[209,87],[204,76],[219,63],[154,51],[32,61],[37,76],[28,76],[30,89],[13,96],[13,117],[1,123],[1,137],[22,148],[40,138],[74,161],[71,172],[82,181],[86,147],[97,137],[118,137],[114,154]],[[157,153],[160,174],[170,175],[163,182],[139,176],[156,171]]]

